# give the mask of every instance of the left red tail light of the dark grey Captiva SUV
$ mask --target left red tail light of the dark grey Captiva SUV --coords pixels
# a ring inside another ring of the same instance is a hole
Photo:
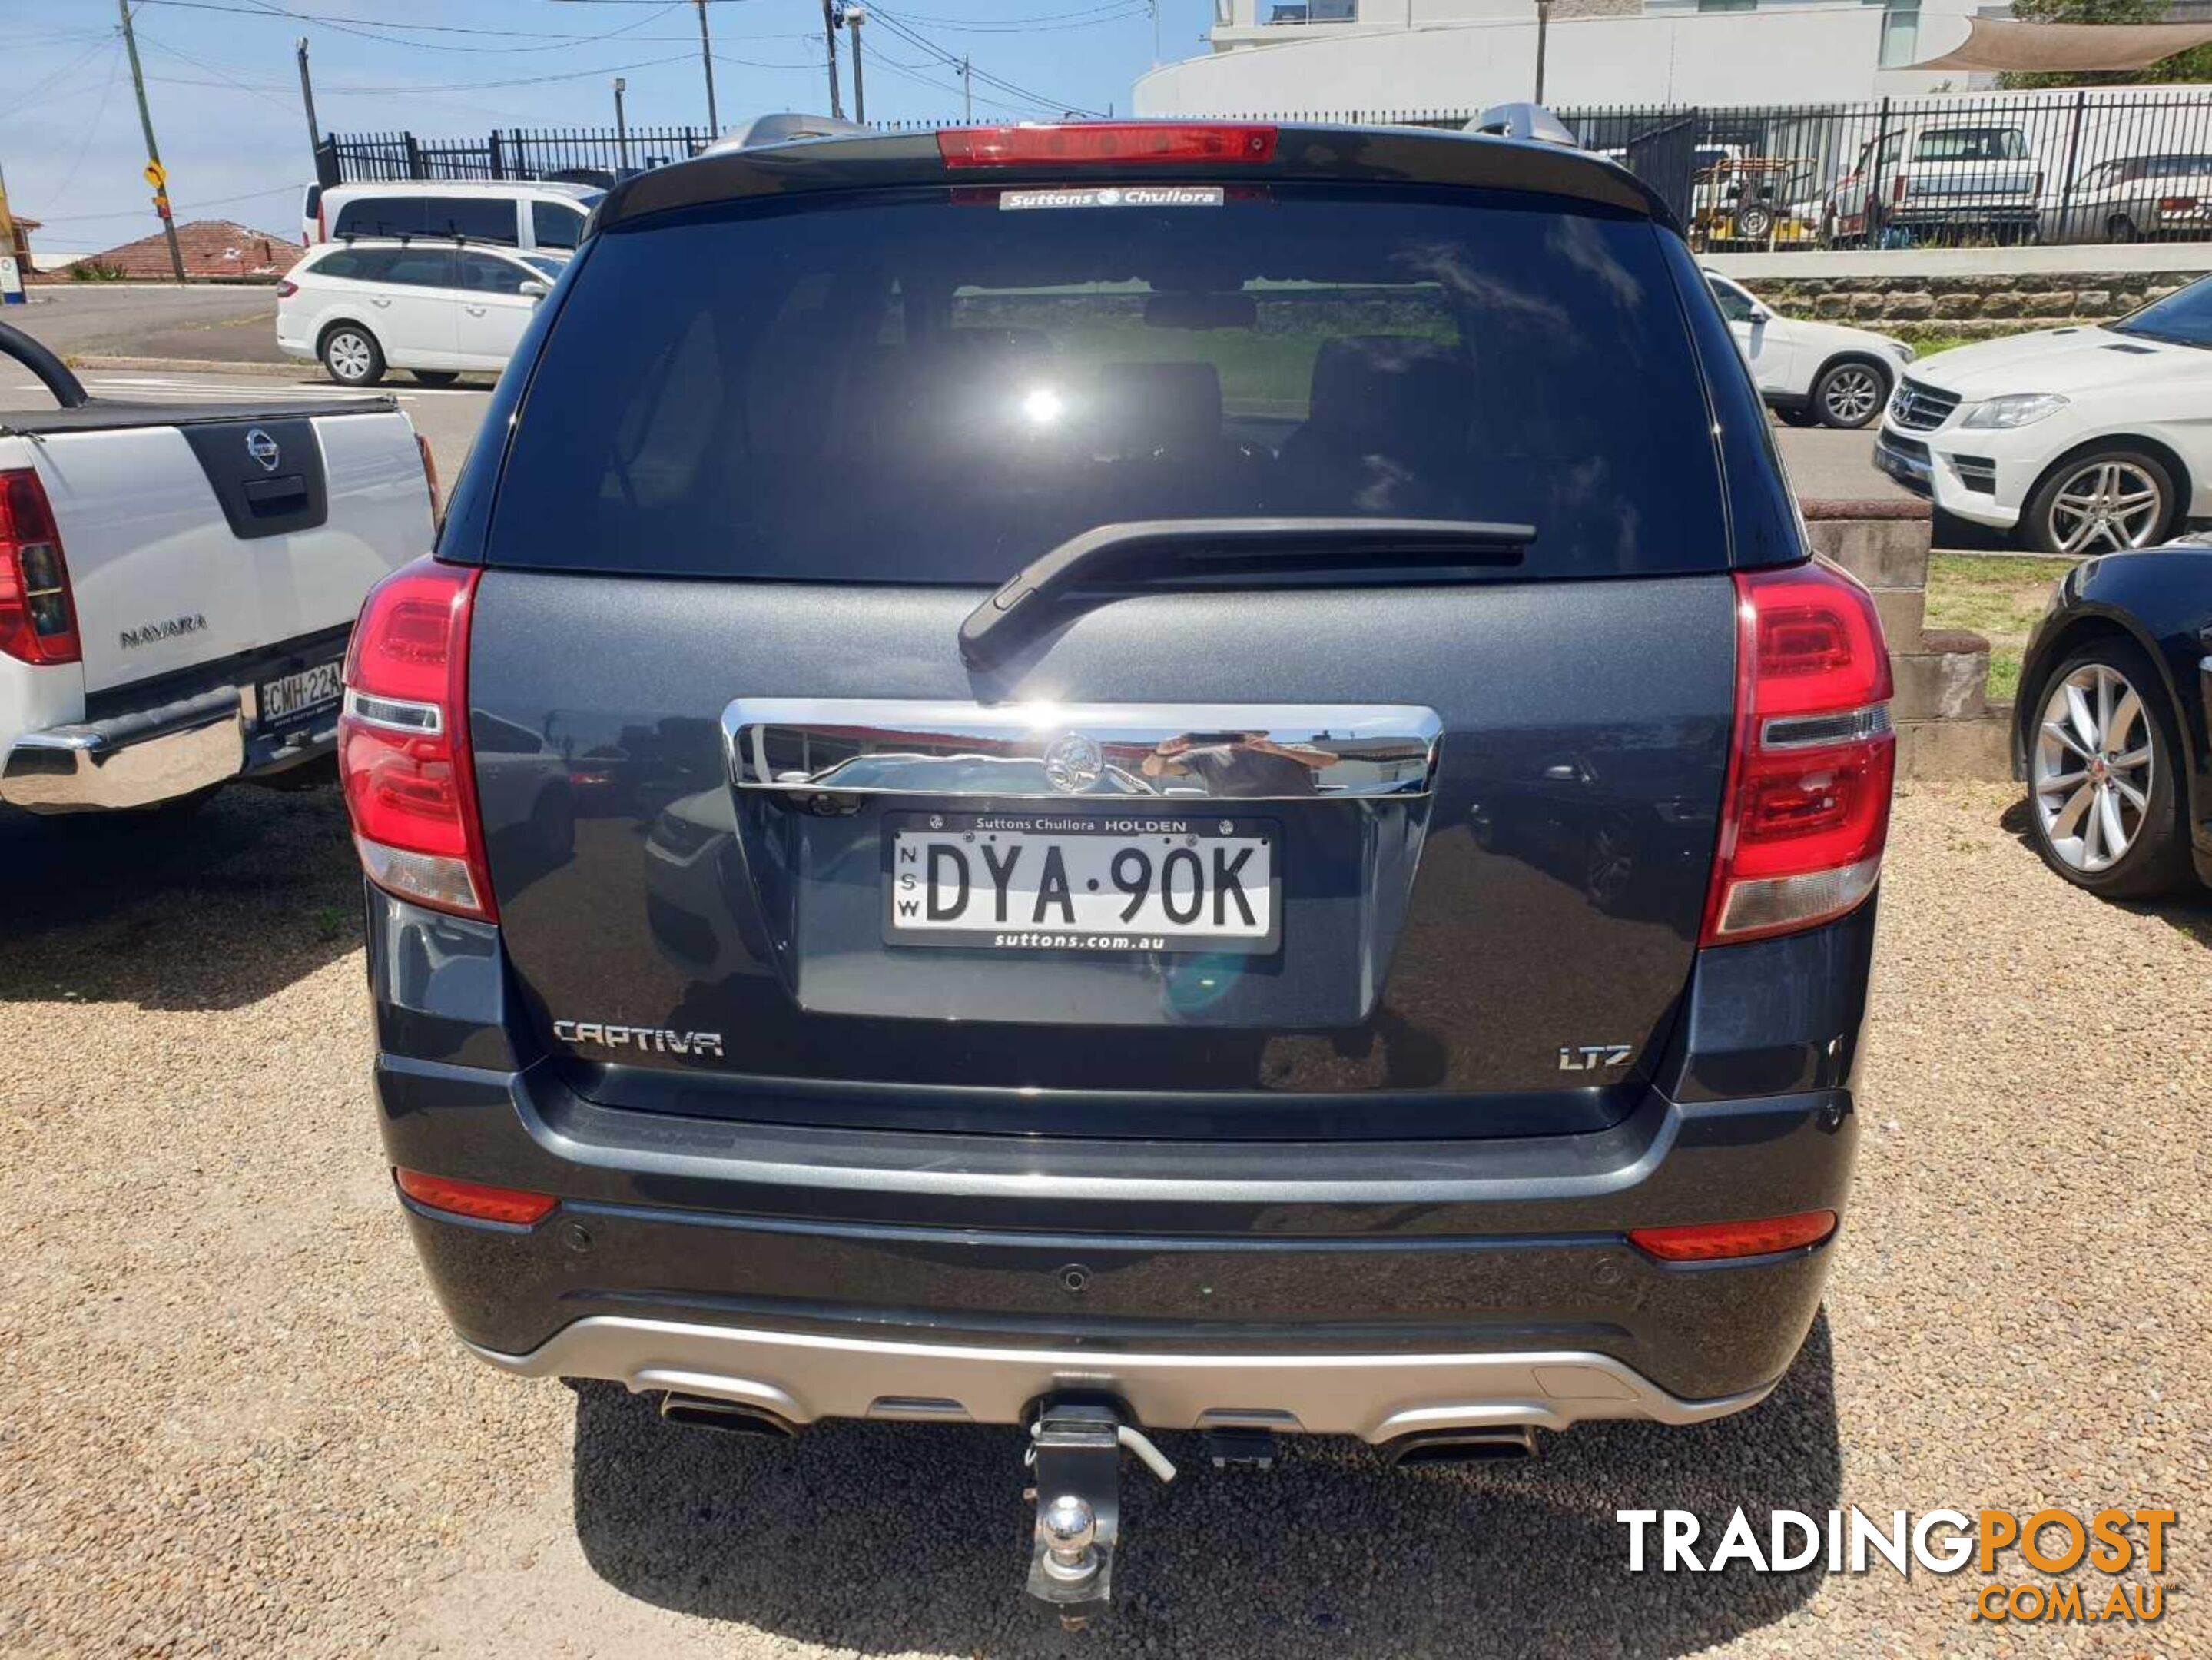
[[[369,881],[498,921],[469,755],[478,575],[422,558],[369,589],[345,649],[338,779]]]

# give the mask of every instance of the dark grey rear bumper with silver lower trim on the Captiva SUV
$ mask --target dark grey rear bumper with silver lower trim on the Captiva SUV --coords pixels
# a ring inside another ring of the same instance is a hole
[[[1106,1140],[588,1100],[498,927],[369,890],[376,1096],[392,1164],[560,1200],[504,1226],[400,1197],[453,1328],[511,1372],[792,1421],[1091,1388],[1159,1428],[1683,1423],[1781,1379],[1832,1242],[1668,1264],[1628,1231],[1845,1211],[1874,923],[1701,954],[1655,1087],[1601,1129]]]

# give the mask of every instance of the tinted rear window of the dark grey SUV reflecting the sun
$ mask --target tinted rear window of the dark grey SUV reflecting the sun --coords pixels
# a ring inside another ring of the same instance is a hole
[[[1531,522],[1522,575],[1728,564],[1648,221],[1374,188],[1022,199],[597,237],[489,562],[993,584],[1097,525],[1325,513]]]

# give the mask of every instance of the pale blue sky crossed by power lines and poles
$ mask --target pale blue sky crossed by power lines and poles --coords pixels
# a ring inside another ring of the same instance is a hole
[[[869,13],[874,120],[958,115],[942,55],[973,60],[978,120],[1126,113],[1152,62],[1148,0],[891,0]],[[1161,55],[1203,51],[1210,15],[1206,0],[1159,0]],[[133,27],[179,221],[294,230],[312,177],[301,35],[325,131],[613,126],[615,75],[633,124],[706,124],[692,0],[133,0]],[[827,106],[821,0],[710,0],[708,27],[723,126]],[[852,113],[843,40],[838,69]],[[0,173],[15,212],[46,221],[38,250],[157,230],[144,164],[115,0],[0,0]]]

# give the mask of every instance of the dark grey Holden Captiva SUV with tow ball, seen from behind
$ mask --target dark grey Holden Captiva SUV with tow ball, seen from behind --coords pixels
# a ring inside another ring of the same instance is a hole
[[[1666,208],[1535,142],[827,137],[617,186],[345,788],[416,1244],[672,1417],[1405,1459],[1756,1403],[1889,666]],[[1130,1465],[1135,1470],[1135,1465]]]

